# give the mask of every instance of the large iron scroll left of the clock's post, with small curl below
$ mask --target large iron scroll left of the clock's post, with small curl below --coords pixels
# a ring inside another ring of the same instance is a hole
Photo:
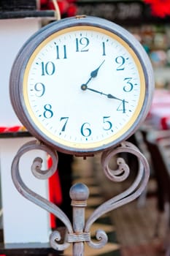
[[[34,159],[34,162],[31,166],[32,173],[34,173],[34,175],[37,178],[43,178],[43,179],[48,178],[48,177],[52,176],[53,173],[55,173],[55,171],[57,170],[57,166],[58,166],[58,154],[52,148],[45,146],[45,144],[42,144],[42,143],[37,142],[36,140],[33,140],[33,141],[30,141],[30,142],[24,144],[18,150],[18,153],[16,154],[15,158],[13,159],[12,169],[11,169],[12,181],[15,184],[16,189],[18,189],[18,192],[20,192],[20,194],[23,195],[23,197],[26,197],[32,203],[35,203],[37,206],[40,206],[41,208],[45,209],[46,211],[49,211],[50,213],[54,214],[55,217],[57,217],[58,219],[61,219],[63,224],[66,225],[69,233],[73,233],[72,224],[71,224],[69,218],[66,216],[66,214],[64,214],[64,212],[61,211],[61,209],[58,208],[58,206],[55,206],[54,203],[52,203],[49,200],[45,199],[44,197],[36,194],[31,189],[28,189],[26,184],[23,183],[23,180],[22,180],[22,178],[20,176],[20,172],[19,172],[20,158],[27,151],[31,151],[31,150],[35,150],[35,149],[46,151],[47,154],[50,154],[50,157],[52,157],[52,159],[53,159],[53,165],[52,165],[52,167],[50,167],[49,170],[41,170],[42,159],[40,157],[36,157],[36,159]],[[55,239],[61,238],[60,235],[56,236],[56,233],[52,237],[55,237]],[[58,244],[55,245],[55,243],[56,243],[55,239],[53,240],[54,242],[52,243],[54,246],[53,248],[58,246]],[[67,243],[60,245],[58,248],[62,249],[66,246],[68,246]]]

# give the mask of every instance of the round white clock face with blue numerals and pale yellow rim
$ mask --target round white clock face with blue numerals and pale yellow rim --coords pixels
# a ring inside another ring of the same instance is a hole
[[[88,154],[115,146],[146,116],[146,69],[138,52],[105,27],[64,26],[27,58],[18,114],[23,110],[23,124],[61,151]]]

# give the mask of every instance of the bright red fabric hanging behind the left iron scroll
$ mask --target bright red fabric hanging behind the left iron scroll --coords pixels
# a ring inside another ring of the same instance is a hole
[[[53,162],[51,157],[49,157],[47,161],[48,168],[52,166]],[[61,192],[61,184],[60,178],[58,176],[58,170],[48,179],[48,187],[49,187],[49,200],[57,206],[60,206],[62,203],[62,192]],[[55,216],[50,214],[50,227],[55,229],[56,222]]]

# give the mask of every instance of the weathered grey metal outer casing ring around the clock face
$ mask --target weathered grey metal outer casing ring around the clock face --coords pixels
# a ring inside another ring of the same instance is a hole
[[[42,132],[42,130],[39,129],[38,125],[35,125],[36,122],[34,121],[34,118],[31,118],[30,110],[28,110],[25,102],[26,91],[24,91],[25,89],[23,86],[23,81],[26,79],[26,69],[28,69],[28,63],[31,61],[31,58],[34,58],[33,56],[37,48],[40,47],[39,45],[45,44],[45,40],[47,40],[48,37],[52,37],[54,33],[60,34],[63,31],[77,28],[77,26],[79,28],[83,28],[84,26],[93,26],[98,29],[104,29],[105,31],[107,30],[109,31],[108,33],[113,33],[116,37],[119,37],[122,42],[125,42],[126,46],[128,45],[128,47],[131,48],[131,53],[134,54],[135,58],[139,60],[139,64],[143,70],[144,76],[142,79],[144,79],[145,82],[144,102],[142,104],[139,116],[136,117],[131,127],[129,127],[128,130],[126,129],[122,135],[110,143],[102,143],[102,145],[99,143],[100,146],[94,146],[93,148],[89,146],[84,146],[83,148],[83,145],[81,147],[77,146],[77,148],[75,148],[73,146],[67,146],[68,143],[63,145],[63,143],[58,143],[58,141],[56,142],[55,140],[49,138],[47,133],[45,134],[45,132]],[[152,92],[154,88],[153,84],[154,79],[152,74],[152,66],[150,64],[147,53],[145,53],[142,45],[140,45],[139,42],[137,42],[137,40],[128,31],[118,26],[117,24],[110,22],[109,20],[83,16],[82,18],[66,18],[63,20],[55,21],[54,23],[50,23],[49,25],[37,31],[33,37],[28,39],[26,44],[23,45],[23,48],[21,48],[20,52],[18,53],[18,56],[15,59],[15,63],[12,67],[10,77],[10,97],[12,106],[18,118],[28,129],[28,131],[31,132],[31,134],[34,135],[37,139],[55,147],[58,151],[62,151],[67,154],[88,155],[117,146],[117,144],[134,134],[136,129],[138,129],[140,124],[142,124],[142,121],[144,121],[144,118],[147,116],[152,99]]]

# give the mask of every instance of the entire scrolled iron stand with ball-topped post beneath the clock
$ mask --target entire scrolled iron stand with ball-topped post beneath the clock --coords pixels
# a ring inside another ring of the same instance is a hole
[[[55,206],[53,203],[47,199],[37,195],[35,192],[31,191],[26,187],[26,184],[23,183],[22,178],[20,177],[19,172],[19,162],[20,158],[27,151],[39,149],[46,151],[53,159],[53,165],[49,170],[41,170],[42,159],[36,157],[31,166],[31,171],[36,176],[36,178],[49,178],[58,166],[58,154],[53,148],[45,146],[42,143],[37,142],[36,140],[31,141],[23,145],[12,162],[12,180],[15,184],[15,187],[18,189],[21,195],[26,197],[31,202],[36,205],[44,208],[45,210],[53,213],[55,217],[61,219],[63,224],[66,226],[66,237],[61,244],[61,234],[58,231],[53,231],[50,235],[50,244],[56,250],[64,250],[70,244],[73,244],[73,256],[83,256],[84,255],[84,244],[85,242],[88,246],[95,249],[102,248],[107,244],[108,238],[104,230],[96,230],[96,241],[92,241],[90,238],[90,228],[93,223],[101,217],[103,214],[108,213],[109,211],[114,210],[120,206],[123,206],[126,203],[131,202],[132,200],[139,197],[139,195],[144,191],[147,186],[147,181],[150,175],[149,165],[147,159],[139,151],[136,146],[132,143],[123,142],[120,146],[113,148],[108,151],[104,151],[101,155],[101,166],[104,170],[104,175],[107,176],[111,181],[121,182],[125,181],[128,178],[130,173],[130,168],[125,162],[123,157],[120,157],[122,153],[133,154],[136,159],[138,159],[139,170],[136,175],[134,182],[131,184],[131,187],[126,189],[124,192],[121,192],[119,195],[112,197],[110,200],[107,200],[105,203],[102,203],[101,206],[98,206],[93,214],[85,222],[85,206],[88,199],[89,191],[88,187],[85,184],[74,184],[70,189],[70,197],[72,198],[72,207],[73,207],[73,224],[69,221],[66,214],[61,211],[58,206]],[[109,162],[111,159],[116,159],[117,169],[111,170],[109,167]],[[59,243],[58,243],[59,242]]]

